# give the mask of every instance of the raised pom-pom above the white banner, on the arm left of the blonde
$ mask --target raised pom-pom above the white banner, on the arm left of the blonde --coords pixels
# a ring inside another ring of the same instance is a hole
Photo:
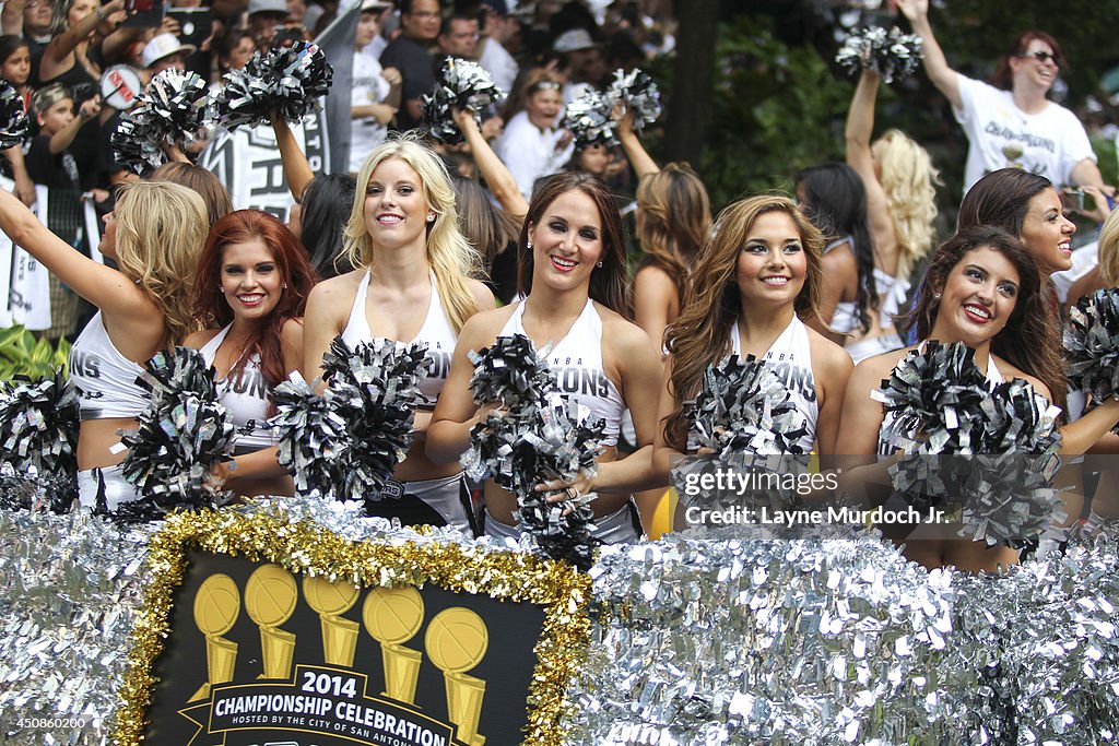
[[[213,115],[228,130],[270,122],[273,112],[285,122],[300,122],[319,106],[332,78],[326,54],[313,44],[256,53],[245,67],[225,74]]]

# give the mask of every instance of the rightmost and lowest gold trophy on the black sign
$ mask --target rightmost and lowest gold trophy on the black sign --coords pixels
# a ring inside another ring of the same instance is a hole
[[[482,746],[478,735],[486,682],[466,671],[478,665],[489,648],[489,632],[478,614],[462,606],[445,608],[427,624],[424,648],[432,663],[443,672],[446,687],[446,712],[458,726],[459,740]]]

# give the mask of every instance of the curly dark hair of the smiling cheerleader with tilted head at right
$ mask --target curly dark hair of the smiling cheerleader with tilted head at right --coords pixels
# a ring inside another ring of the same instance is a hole
[[[990,351],[1019,370],[1035,376],[1050,389],[1053,403],[1064,409],[1065,376],[1061,360],[1061,338],[1043,292],[1037,262],[1014,235],[995,226],[963,228],[941,244],[929,261],[913,310],[902,317],[897,329],[905,336],[916,329],[918,339],[928,339],[940,312],[940,291],[952,268],[969,252],[991,248],[1005,256],[1018,272],[1018,296],[1014,311],[990,341]]]

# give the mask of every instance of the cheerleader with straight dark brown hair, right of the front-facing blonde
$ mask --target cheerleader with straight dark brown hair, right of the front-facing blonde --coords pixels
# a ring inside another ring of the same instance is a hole
[[[469,351],[500,336],[524,334],[547,349],[560,391],[591,419],[604,419],[596,473],[537,487],[553,500],[595,492],[595,537],[617,542],[640,533],[630,494],[655,485],[650,470],[660,362],[649,336],[622,315],[626,303],[626,239],[613,198],[587,173],[547,179],[528,208],[518,242],[519,290],[525,300],[481,313],[462,329],[451,375],[427,434],[427,455],[453,463],[467,450],[480,410],[470,393]],[[618,459],[622,412],[633,412],[639,448]],[[486,533],[516,536],[516,498],[486,484]]]

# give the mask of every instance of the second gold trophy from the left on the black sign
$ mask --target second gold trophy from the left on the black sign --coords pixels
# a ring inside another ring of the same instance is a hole
[[[295,635],[278,627],[291,618],[298,601],[295,578],[279,565],[256,568],[245,584],[245,611],[261,627],[263,671],[258,679],[288,679],[291,676]]]

